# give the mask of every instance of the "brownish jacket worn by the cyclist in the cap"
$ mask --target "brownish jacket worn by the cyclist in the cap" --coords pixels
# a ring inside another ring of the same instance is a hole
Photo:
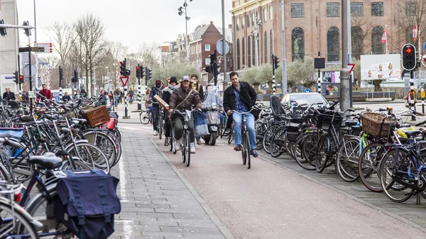
[[[190,93],[191,94],[187,98],[187,100],[183,102],[182,104],[180,104],[180,106],[177,109],[180,111],[183,111],[184,109],[187,109],[188,111],[190,111],[192,110],[192,105],[194,105],[195,108],[197,109],[201,109],[202,101],[200,98],[200,94],[198,94],[197,91],[195,90],[191,91],[191,89],[192,89],[191,87],[187,89],[186,91],[182,87],[175,89],[175,91],[173,91],[173,94],[170,96],[169,109],[175,109],[175,107],[178,104],[180,104],[180,102],[182,102],[186,98],[186,96]]]

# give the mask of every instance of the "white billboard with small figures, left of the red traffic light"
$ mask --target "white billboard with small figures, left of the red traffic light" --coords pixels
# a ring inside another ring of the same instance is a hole
[[[361,55],[361,80],[401,79],[400,54]]]

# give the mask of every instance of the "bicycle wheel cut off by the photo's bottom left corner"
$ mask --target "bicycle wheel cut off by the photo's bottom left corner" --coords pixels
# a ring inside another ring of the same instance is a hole
[[[23,213],[26,213],[26,211],[20,206],[0,203],[0,218],[2,219],[0,238],[28,238],[28,236],[31,239],[40,238],[35,226],[28,221]],[[33,220],[37,219],[33,218]]]

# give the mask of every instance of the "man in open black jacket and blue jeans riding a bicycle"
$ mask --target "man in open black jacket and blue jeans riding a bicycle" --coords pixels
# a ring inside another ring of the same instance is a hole
[[[234,120],[234,150],[241,150],[241,112],[248,112],[256,104],[256,91],[247,82],[239,81],[237,72],[229,73],[232,85],[224,91],[224,109],[228,115],[232,115]],[[239,113],[235,113],[237,111]],[[250,154],[258,157],[256,152],[256,130],[254,128],[254,116],[251,113],[245,113],[246,126],[249,130]]]

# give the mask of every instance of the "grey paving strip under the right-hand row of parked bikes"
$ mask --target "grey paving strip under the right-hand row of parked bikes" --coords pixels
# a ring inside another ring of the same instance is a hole
[[[339,177],[339,174],[337,174],[333,166],[324,169],[324,172],[322,173],[318,173],[316,171],[302,169],[302,167],[297,165],[297,162],[295,162],[295,160],[293,160],[293,158],[289,155],[283,154],[278,158],[274,158],[263,150],[258,150],[258,153],[267,160],[271,160],[282,167],[293,169],[295,172],[299,172],[309,179],[313,179],[320,184],[327,185],[332,189],[351,196],[357,201],[364,202],[364,204],[367,204],[378,211],[387,213],[394,218],[409,223],[411,226],[426,232],[426,201],[423,198],[421,198],[422,201],[420,205],[416,204],[415,196],[412,196],[404,203],[394,203],[383,193],[379,194],[369,191],[361,181],[352,183],[344,182]]]

